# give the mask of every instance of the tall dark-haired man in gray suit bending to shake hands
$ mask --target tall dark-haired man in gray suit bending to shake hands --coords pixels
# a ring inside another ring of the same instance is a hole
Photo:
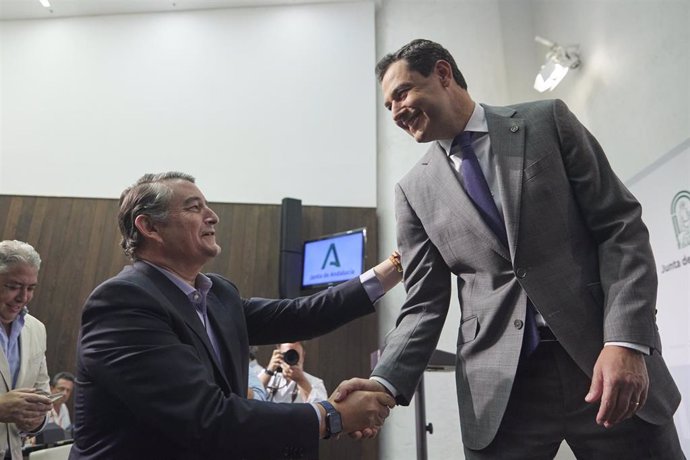
[[[396,186],[407,300],[372,380],[341,394],[385,386],[409,404],[453,274],[466,458],[553,458],[564,439],[583,459],[684,458],[648,232],[596,139],[561,101],[476,104],[428,40],[376,70],[393,121],[432,144]]]

